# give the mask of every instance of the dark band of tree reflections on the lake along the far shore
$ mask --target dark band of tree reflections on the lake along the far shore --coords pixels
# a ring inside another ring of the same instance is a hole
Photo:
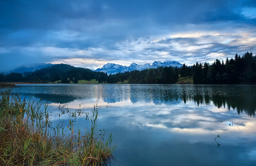
[[[50,103],[68,103],[74,100],[153,102],[155,105],[173,105],[194,101],[199,105],[213,103],[255,116],[256,86],[205,85],[27,85],[13,89],[14,94],[43,98]]]

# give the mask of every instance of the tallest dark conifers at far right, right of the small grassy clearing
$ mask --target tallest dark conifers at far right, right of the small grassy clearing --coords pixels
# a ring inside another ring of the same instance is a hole
[[[185,71],[184,66],[181,70]],[[242,57],[235,54],[234,59],[227,58],[225,63],[216,59],[212,65],[196,62],[190,70],[194,84],[255,84],[256,55],[252,52],[244,53]]]

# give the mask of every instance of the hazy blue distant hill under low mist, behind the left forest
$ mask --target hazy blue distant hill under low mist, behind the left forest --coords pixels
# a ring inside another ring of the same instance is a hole
[[[9,72],[18,72],[18,73],[23,73],[23,72],[33,72],[42,68],[46,68],[48,66],[52,66],[53,64],[46,64],[46,63],[37,63],[37,64],[32,64],[32,65],[26,65],[26,66],[19,66],[18,68],[9,71]]]

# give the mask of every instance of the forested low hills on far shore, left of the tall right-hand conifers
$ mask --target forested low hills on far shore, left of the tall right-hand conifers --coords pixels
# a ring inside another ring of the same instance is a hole
[[[174,84],[179,78],[179,69],[173,67],[160,67],[157,69],[134,70],[124,73],[110,74],[92,71],[85,68],[75,68],[67,64],[56,64],[34,72],[23,74],[11,72],[0,74],[0,82],[33,82],[50,83],[57,82],[68,84],[78,83],[78,80],[95,79],[99,83],[117,83],[127,81],[129,84]]]

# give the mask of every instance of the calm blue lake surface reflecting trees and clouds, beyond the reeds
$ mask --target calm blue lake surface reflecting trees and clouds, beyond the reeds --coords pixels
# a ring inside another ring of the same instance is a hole
[[[48,101],[53,124],[60,104],[90,112],[97,103],[99,128],[114,134],[114,165],[256,165],[256,86],[18,85],[12,93]],[[88,124],[81,116],[75,126]]]

